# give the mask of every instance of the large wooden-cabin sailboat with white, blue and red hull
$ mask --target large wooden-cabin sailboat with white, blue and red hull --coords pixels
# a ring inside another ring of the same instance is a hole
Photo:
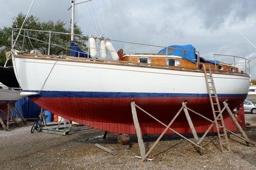
[[[31,32],[37,32],[22,30],[31,36]],[[63,118],[121,134],[136,134],[131,101],[165,125],[185,100],[190,109],[213,119],[204,66],[212,72],[220,103],[228,100],[233,110],[247,97],[251,78],[250,60],[246,58],[215,54],[212,60],[206,60],[192,45],[161,47],[92,35],[88,39],[89,50],[82,52],[83,57],[70,53],[25,54],[14,47],[14,72],[23,89],[20,95]],[[116,51],[113,44],[118,42],[126,44],[125,48]],[[138,109],[137,117],[141,134],[161,134],[165,129]],[[227,129],[236,130],[227,112],[223,118]],[[211,124],[197,115],[191,115],[191,119],[197,132],[205,132]],[[171,128],[179,133],[191,132],[183,114]]]

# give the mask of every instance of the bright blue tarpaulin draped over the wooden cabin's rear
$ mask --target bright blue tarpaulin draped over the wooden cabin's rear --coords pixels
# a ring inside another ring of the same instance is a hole
[[[168,53],[167,53],[168,52]],[[189,60],[192,63],[197,61],[197,54],[195,54],[195,47],[192,45],[170,45],[167,48],[163,48],[158,52],[162,55],[177,55],[183,59]],[[214,60],[206,60],[203,57],[200,57],[200,62],[204,63],[215,63]],[[219,61],[216,61],[216,64],[219,64]]]

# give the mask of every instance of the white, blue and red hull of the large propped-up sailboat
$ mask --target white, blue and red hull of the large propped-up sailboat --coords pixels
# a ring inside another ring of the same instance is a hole
[[[203,72],[40,57],[16,57],[13,62],[14,70],[19,70],[16,77],[23,91],[38,93],[29,96],[32,101],[56,115],[92,128],[135,134],[131,100],[165,125],[171,122],[185,99],[190,109],[213,120]],[[213,73],[213,79],[220,103],[228,100],[233,110],[245,100],[249,76]],[[210,123],[191,114],[195,130],[205,132]],[[139,109],[137,115],[142,134],[164,131],[165,126]],[[224,112],[223,116],[227,129],[236,130],[228,113]],[[180,133],[191,132],[183,111],[171,128]]]

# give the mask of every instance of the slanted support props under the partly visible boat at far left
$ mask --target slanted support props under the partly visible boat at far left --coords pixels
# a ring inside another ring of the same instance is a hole
[[[22,114],[20,114],[19,110],[17,109],[15,103],[14,104],[10,104],[9,102],[7,102],[7,107],[8,107],[8,111],[7,111],[7,125],[5,125],[4,121],[2,120],[2,118],[0,117],[0,123],[2,125],[2,127],[4,128],[5,131],[8,131],[9,130],[9,117],[11,116],[11,119],[13,120],[13,122],[16,124],[16,126],[18,127],[19,126],[19,123],[17,122],[16,118],[14,117],[13,115],[13,110],[14,112],[17,113],[17,115],[20,116],[20,119],[22,119],[24,125],[26,125],[26,121],[25,119],[23,118]],[[0,112],[4,113],[6,115],[6,113],[4,111],[2,111],[0,109]]]

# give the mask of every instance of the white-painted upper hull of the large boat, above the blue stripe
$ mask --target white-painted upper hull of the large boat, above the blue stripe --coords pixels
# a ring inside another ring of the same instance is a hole
[[[16,58],[24,91],[207,94],[203,72]],[[218,94],[247,94],[249,77],[213,73]]]

